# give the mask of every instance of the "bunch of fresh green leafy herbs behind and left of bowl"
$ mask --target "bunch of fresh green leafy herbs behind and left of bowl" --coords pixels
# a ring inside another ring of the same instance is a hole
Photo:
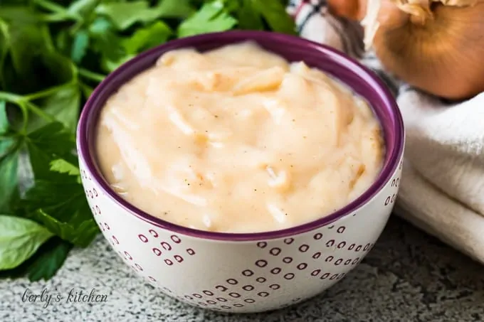
[[[75,156],[93,88],[174,38],[294,33],[281,0],[1,0],[0,276],[50,279],[98,235]]]

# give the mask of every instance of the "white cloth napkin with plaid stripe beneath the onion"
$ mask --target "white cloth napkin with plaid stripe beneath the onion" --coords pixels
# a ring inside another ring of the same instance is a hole
[[[288,12],[300,36],[359,58],[394,91],[406,127],[395,213],[484,263],[484,93],[453,104],[425,95],[386,75],[373,53],[362,57],[362,28],[325,1],[293,0]]]

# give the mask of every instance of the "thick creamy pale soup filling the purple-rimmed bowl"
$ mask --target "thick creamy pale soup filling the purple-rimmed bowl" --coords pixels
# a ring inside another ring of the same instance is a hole
[[[96,140],[122,198],[213,232],[329,215],[372,185],[384,156],[364,100],[250,42],[165,53],[107,100]]]

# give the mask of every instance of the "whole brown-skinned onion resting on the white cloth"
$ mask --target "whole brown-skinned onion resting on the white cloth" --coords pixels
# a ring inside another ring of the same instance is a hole
[[[362,22],[367,45],[404,82],[449,100],[484,91],[483,1],[328,2],[334,14]]]

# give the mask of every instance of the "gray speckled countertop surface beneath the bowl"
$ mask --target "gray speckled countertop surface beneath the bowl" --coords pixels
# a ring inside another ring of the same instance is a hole
[[[105,303],[24,303],[26,288],[67,296],[105,294]],[[117,258],[100,237],[70,254],[48,282],[0,281],[0,321],[343,322],[484,321],[484,267],[393,217],[372,252],[324,294],[282,311],[228,315],[162,296]]]

